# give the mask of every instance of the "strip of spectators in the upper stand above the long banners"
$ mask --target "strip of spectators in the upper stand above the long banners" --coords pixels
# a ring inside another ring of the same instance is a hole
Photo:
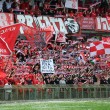
[[[6,13],[50,15],[58,17],[107,17],[110,16],[108,0],[78,0],[79,8],[65,8],[65,0],[0,0],[0,10]],[[97,4],[97,2],[100,2]],[[91,5],[95,4],[96,5]]]

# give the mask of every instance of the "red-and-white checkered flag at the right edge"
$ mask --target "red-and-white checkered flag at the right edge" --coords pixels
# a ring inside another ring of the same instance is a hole
[[[110,43],[96,41],[90,43],[90,56],[110,54]]]

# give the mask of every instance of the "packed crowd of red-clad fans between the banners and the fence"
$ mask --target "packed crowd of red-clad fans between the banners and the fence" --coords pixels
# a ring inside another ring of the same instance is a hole
[[[40,59],[53,59],[55,73],[41,73]],[[7,81],[14,85],[110,83],[110,55],[90,57],[87,41],[82,40],[40,48],[18,39],[13,55],[1,57],[1,62],[7,77],[0,79],[0,85]]]

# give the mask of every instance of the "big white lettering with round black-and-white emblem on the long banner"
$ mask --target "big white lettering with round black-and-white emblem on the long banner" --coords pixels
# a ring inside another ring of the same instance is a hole
[[[64,32],[65,34],[76,34],[80,31],[80,25],[77,21],[72,18],[67,18],[66,20],[62,18],[55,18],[49,16],[38,16],[32,17],[30,15],[17,15],[16,21],[18,23],[25,23],[27,26],[46,28],[48,26],[53,26],[55,34],[56,32]]]

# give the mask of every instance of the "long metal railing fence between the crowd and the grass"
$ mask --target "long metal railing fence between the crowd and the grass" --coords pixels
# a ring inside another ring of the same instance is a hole
[[[27,85],[7,89],[0,87],[1,101],[109,97],[110,85]]]

